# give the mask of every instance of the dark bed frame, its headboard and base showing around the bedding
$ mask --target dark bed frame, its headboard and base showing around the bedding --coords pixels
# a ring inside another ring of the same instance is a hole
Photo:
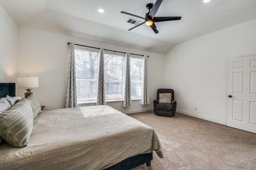
[[[6,97],[9,95],[10,97],[16,96],[16,86],[15,83],[0,83],[0,98]],[[151,160],[153,160],[153,154],[138,154],[136,156],[132,156],[122,160],[121,162],[114,164],[104,170],[130,170],[142,164],[150,166]]]

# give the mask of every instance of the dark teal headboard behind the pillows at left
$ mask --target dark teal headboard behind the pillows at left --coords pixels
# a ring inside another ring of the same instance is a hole
[[[16,96],[15,83],[0,83],[0,98],[6,97],[7,95],[10,97]]]

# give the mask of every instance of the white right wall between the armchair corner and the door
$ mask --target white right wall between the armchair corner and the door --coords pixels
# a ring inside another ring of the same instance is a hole
[[[178,112],[226,124],[228,59],[250,55],[256,19],[176,45],[166,54],[165,87],[174,89]]]

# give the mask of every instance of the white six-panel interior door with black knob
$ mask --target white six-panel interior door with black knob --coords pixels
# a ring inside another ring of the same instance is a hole
[[[229,60],[228,126],[256,133],[256,55]]]

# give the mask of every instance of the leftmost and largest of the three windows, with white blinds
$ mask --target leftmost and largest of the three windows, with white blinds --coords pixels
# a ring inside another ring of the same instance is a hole
[[[75,49],[76,89],[78,103],[97,99],[98,52]]]

